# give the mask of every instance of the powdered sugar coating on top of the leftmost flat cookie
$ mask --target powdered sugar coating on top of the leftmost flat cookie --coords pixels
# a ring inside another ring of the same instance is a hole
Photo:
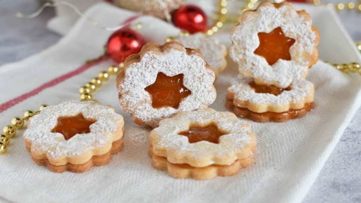
[[[90,125],[90,133],[76,134],[65,140],[61,133],[52,133],[58,117],[76,116],[82,113],[84,118],[96,120]],[[23,137],[29,140],[31,151],[45,152],[47,157],[71,157],[84,154],[90,149],[112,143],[112,133],[122,128],[123,117],[110,106],[96,102],[66,101],[44,108],[38,115],[30,118]]]

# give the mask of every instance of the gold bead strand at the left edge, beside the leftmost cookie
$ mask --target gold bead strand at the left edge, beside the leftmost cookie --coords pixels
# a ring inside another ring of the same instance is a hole
[[[20,130],[24,126],[24,121],[35,116],[42,111],[47,104],[43,104],[39,107],[39,111],[27,110],[24,112],[24,117],[14,117],[10,121],[10,125],[6,125],[3,128],[3,134],[0,134],[0,154],[4,154],[8,150],[10,139],[15,137],[17,130]]]

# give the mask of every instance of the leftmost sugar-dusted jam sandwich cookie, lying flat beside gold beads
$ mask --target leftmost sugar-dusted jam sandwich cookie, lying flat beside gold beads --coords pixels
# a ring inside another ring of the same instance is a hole
[[[122,150],[124,121],[109,106],[68,101],[45,107],[29,119],[26,150],[53,172],[81,173],[108,164]]]

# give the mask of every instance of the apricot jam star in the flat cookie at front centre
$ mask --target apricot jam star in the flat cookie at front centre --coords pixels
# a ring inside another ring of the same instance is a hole
[[[210,124],[205,127],[191,126],[189,130],[178,133],[178,135],[184,135],[188,137],[189,143],[208,141],[216,144],[219,143],[219,137],[225,134],[227,133],[220,131],[214,124]]]

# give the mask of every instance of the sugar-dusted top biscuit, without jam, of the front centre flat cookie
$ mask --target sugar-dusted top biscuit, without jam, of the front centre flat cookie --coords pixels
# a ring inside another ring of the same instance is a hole
[[[218,144],[208,141],[189,143],[186,136],[178,135],[189,130],[190,125],[209,124],[215,124],[220,131],[227,133],[219,137]],[[193,167],[205,167],[212,164],[232,164],[239,158],[238,154],[244,154],[245,146],[251,142],[252,137],[255,142],[248,122],[238,120],[231,112],[217,112],[205,108],[180,112],[172,118],[160,121],[159,127],[151,131],[150,139],[153,153],[167,157],[169,162],[181,161]],[[250,149],[248,153],[251,154]]]

